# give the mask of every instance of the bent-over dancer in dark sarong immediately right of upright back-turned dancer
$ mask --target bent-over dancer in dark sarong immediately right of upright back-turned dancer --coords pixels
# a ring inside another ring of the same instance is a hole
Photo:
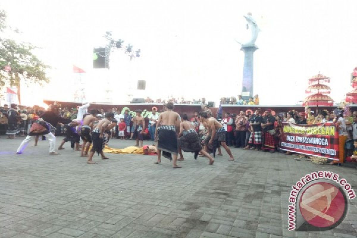
[[[182,149],[185,152],[194,152],[195,159],[197,159],[198,152],[201,152],[210,160],[210,164],[213,164],[214,159],[206,151],[202,150],[200,137],[192,123],[188,121],[188,117],[185,113],[181,115],[181,121],[180,133],[178,133],[178,136],[181,136],[178,138],[178,154],[180,158],[177,160],[183,161]]]

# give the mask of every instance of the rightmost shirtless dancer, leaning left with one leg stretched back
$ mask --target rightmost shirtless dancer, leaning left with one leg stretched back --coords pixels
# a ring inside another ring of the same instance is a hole
[[[232,152],[226,145],[226,132],[225,132],[222,124],[219,123],[216,119],[213,119],[213,117],[208,118],[206,112],[201,112],[200,116],[201,116],[202,122],[206,122],[207,127],[212,130],[211,138],[210,138],[210,141],[208,142],[208,144],[212,144],[213,140],[218,140],[218,142],[220,142],[221,146],[223,146],[225,148],[225,150],[227,151],[227,153],[230,157],[229,160],[233,161],[234,158],[233,158]]]

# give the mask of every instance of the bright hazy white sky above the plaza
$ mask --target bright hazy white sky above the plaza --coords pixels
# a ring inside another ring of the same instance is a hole
[[[256,42],[254,93],[262,105],[288,105],[306,97],[308,78],[331,77],[331,97],[339,102],[350,87],[357,66],[356,0],[270,1],[1,1],[8,23],[23,33],[21,40],[42,47],[39,57],[53,67],[45,93],[22,93],[24,100],[73,101],[77,74],[86,71],[88,101],[123,102],[127,88],[146,80],[135,97],[183,96],[192,100],[241,92],[243,52],[234,39],[247,36],[247,12],[261,32]],[[93,47],[104,46],[112,31],[142,56],[133,61],[117,51],[110,70],[92,69]],[[114,93],[106,96],[110,88]],[[31,98],[31,99],[30,99]],[[25,102],[24,102],[25,103]]]

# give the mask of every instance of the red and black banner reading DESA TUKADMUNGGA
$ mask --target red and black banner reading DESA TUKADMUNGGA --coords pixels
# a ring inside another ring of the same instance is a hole
[[[338,160],[338,129],[332,122],[297,125],[283,122],[281,149]]]

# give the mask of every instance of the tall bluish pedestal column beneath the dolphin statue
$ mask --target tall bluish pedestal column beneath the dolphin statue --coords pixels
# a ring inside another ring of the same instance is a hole
[[[242,98],[243,100],[254,97],[253,95],[253,70],[254,70],[254,52],[259,49],[255,44],[242,45],[241,50],[244,52],[243,80],[242,80]]]

